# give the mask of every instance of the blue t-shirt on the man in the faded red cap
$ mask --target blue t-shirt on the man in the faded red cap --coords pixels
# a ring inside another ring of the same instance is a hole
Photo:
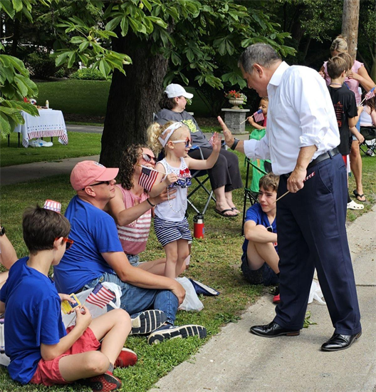
[[[101,253],[123,252],[113,217],[75,196],[66,210],[74,244],[53,267],[59,293],[78,292],[105,272],[115,274]]]

